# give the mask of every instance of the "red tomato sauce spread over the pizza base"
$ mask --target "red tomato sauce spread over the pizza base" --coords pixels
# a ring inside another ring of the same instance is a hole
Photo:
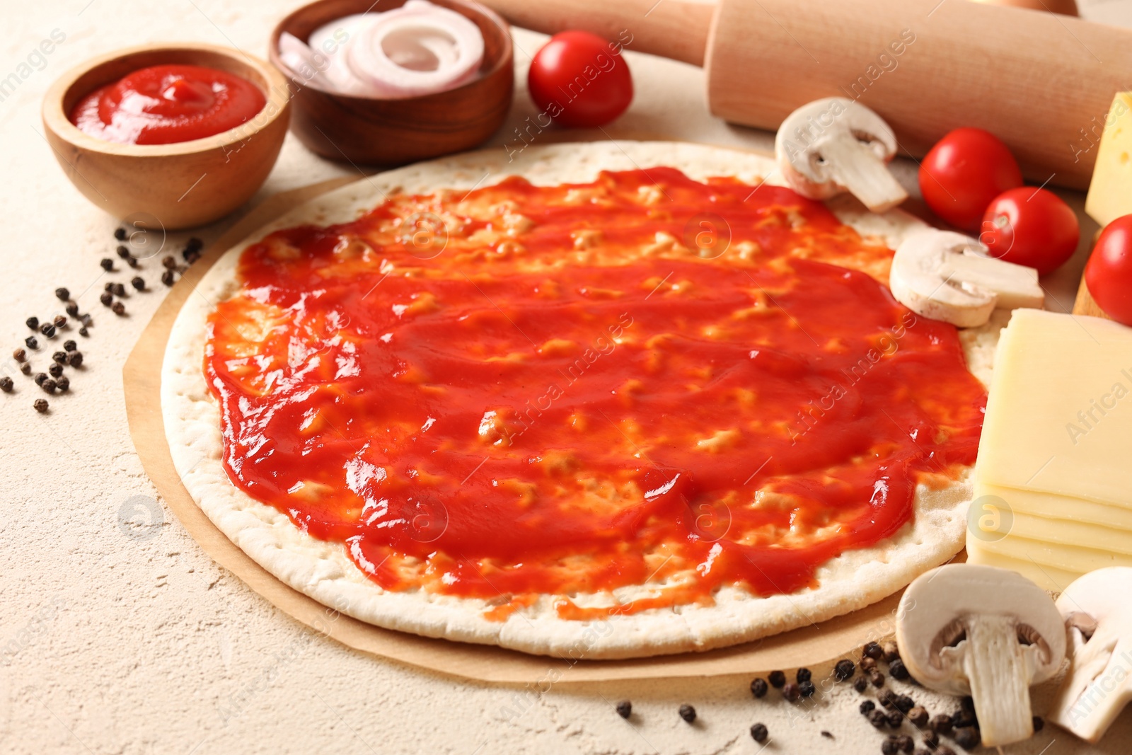
[[[861,272],[891,251],[822,204],[672,169],[460,199],[273,233],[209,320],[231,480],[384,587],[492,618],[540,593],[580,619],[789,593],[975,462],[986,394],[955,328]],[[447,214],[436,256],[419,211]],[[715,259],[671,243],[705,211]]]

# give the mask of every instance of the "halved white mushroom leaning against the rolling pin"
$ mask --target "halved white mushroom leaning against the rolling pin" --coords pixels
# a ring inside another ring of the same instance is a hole
[[[811,199],[849,191],[874,213],[908,198],[886,165],[895,154],[897,137],[884,119],[847,97],[803,105],[774,137],[774,156],[790,188]]]

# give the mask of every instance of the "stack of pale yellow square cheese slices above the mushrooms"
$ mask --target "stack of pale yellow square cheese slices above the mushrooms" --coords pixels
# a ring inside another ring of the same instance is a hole
[[[1132,566],[1132,328],[1018,309],[1003,331],[967,555],[1061,591]]]

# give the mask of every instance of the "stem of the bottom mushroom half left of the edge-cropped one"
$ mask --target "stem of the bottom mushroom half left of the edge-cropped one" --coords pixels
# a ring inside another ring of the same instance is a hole
[[[971,687],[984,747],[1034,735],[1032,646],[1019,643],[1017,625],[1009,616],[983,616],[967,627],[963,674]]]

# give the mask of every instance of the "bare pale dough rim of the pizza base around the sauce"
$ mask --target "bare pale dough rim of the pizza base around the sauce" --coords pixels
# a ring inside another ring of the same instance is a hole
[[[600,170],[669,165],[693,179],[734,175],[781,183],[774,161],[763,155],[685,143],[608,141],[528,147],[514,161],[501,149],[419,163],[348,185],[294,208],[228,250],[181,309],[162,366],[162,413],[178,474],[194,500],[232,542],[291,587],[359,620],[428,637],[495,644],[528,653],[573,659],[624,659],[704,651],[817,624],[858,610],[902,589],[963,548],[970,470],[943,488],[917,488],[914,521],[873,548],[852,550],[816,572],[818,586],[760,598],[736,587],[715,593],[714,606],[677,606],[600,620],[558,618],[550,597],[506,620],[483,618],[491,602],[423,591],[391,592],[362,573],[341,543],[300,530],[285,514],[252,499],[229,480],[221,463],[220,411],[203,374],[206,320],[232,295],[240,252],[280,229],[355,220],[386,194],[465,189],[521,174],[535,185],[586,182]],[[873,215],[854,200],[833,201],[842,222],[890,248],[924,226],[901,211]],[[969,369],[989,383],[997,335],[1009,314],[960,333]],[[643,597],[645,587],[635,589]],[[618,592],[620,595],[620,591]],[[632,600],[633,595],[624,595]],[[572,595],[578,604],[585,595]]]

